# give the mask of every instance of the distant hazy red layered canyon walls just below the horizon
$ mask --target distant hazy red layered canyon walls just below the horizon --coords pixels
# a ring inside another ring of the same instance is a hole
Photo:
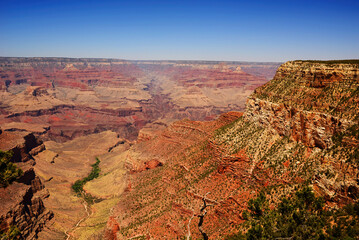
[[[42,124],[45,140],[112,130],[135,140],[158,119],[241,110],[278,63],[0,58],[0,123]]]

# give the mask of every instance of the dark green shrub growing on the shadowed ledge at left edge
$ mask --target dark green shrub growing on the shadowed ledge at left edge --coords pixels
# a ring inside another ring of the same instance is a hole
[[[0,150],[0,187],[7,187],[22,175],[22,170],[10,161],[12,155],[11,151]]]

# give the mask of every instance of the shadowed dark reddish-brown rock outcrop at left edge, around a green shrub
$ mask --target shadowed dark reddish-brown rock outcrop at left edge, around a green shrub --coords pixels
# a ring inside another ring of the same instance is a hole
[[[0,134],[0,149],[11,150],[12,162],[23,170],[17,182],[0,188],[0,226],[6,232],[16,226],[22,239],[35,239],[45,224],[53,217],[43,200],[49,196],[36,176],[33,156],[44,150],[44,145],[33,134],[6,132]]]

